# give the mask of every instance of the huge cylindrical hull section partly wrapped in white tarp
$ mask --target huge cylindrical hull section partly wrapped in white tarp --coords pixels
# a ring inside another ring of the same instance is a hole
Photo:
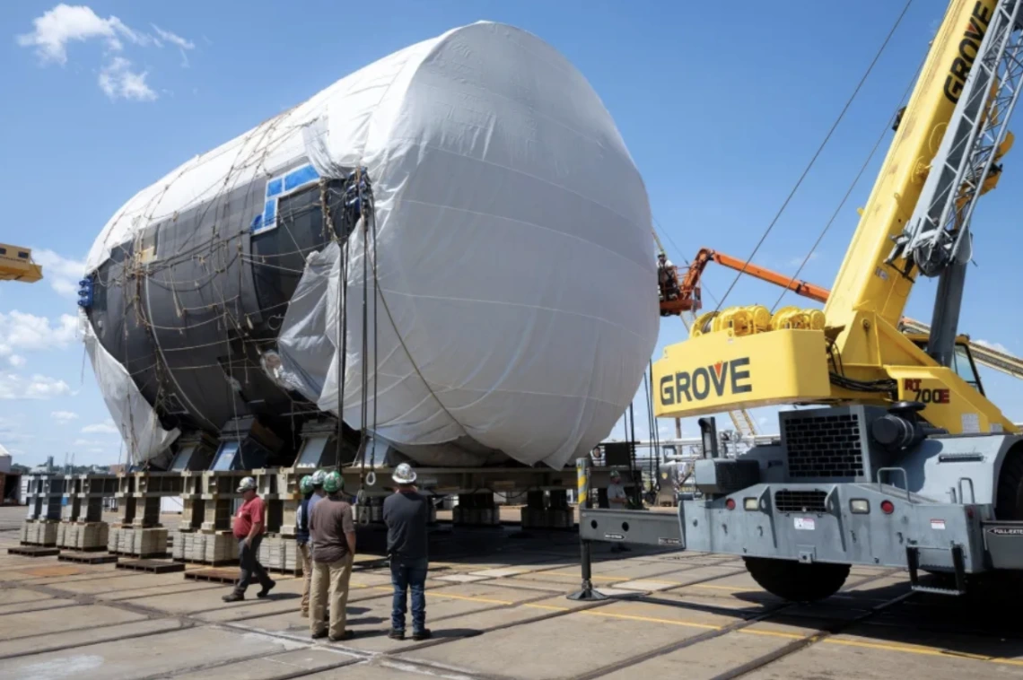
[[[244,416],[287,463],[328,412],[422,464],[563,467],[647,369],[651,254],[642,180],[585,78],[480,22],[132,197],[87,259],[85,342],[136,463]]]

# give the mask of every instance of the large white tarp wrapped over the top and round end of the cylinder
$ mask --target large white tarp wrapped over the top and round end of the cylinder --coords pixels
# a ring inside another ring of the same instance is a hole
[[[479,22],[385,57],[143,189],[87,266],[155,221],[306,160],[323,177],[365,167],[375,195],[376,353],[372,341],[362,351],[358,235],[346,422],[363,421],[363,367],[376,367],[365,419],[412,457],[446,446],[458,452],[449,464],[499,452],[560,467],[608,435],[657,338],[650,206],[610,114],[564,56]],[[340,259],[313,256],[280,343],[301,392],[335,412]],[[316,303],[310,291],[324,288]]]

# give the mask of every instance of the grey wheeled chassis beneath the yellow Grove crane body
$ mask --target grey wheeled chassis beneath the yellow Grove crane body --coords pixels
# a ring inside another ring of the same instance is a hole
[[[742,555],[792,600],[834,594],[851,564],[904,566],[915,590],[949,595],[968,576],[1023,570],[1023,522],[992,519],[1021,498],[1021,437],[929,435],[919,406],[783,412],[781,441],[737,458],[717,457],[713,419],[701,419],[707,457],[677,516],[581,509],[580,537]],[[893,435],[915,449],[893,450]],[[924,585],[921,571],[949,575],[948,587]]]

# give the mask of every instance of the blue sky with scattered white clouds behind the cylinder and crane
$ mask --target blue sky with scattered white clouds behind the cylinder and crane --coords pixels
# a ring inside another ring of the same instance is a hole
[[[769,6],[768,6],[769,5]],[[897,5],[897,6],[896,6]],[[293,9],[298,7],[298,9]],[[0,241],[36,248],[46,279],[0,287],[0,444],[15,460],[115,462],[120,438],[75,337],[75,282],[99,229],[138,189],[343,76],[478,19],[531,31],[589,79],[614,116],[666,234],[669,256],[701,245],[747,257],[844,104],[901,3],[664,2],[0,3]],[[755,261],[792,271],[835,210],[936,30],[942,2],[917,0],[814,171]],[[885,144],[890,141],[890,134]],[[830,285],[879,152],[802,277]],[[1023,163],[1023,162],[1021,162]],[[1023,354],[1011,154],[974,219],[962,329]],[[1015,245],[1015,243],[1013,243]],[[733,274],[708,269],[705,291]],[[930,316],[933,285],[907,313]],[[705,292],[706,294],[706,292]],[[728,302],[777,290],[745,277]],[[681,339],[662,322],[661,347]],[[1020,384],[982,374],[1023,420]],[[637,401],[646,436],[646,402]],[[770,413],[761,429],[774,432]],[[662,422],[664,432],[672,429]],[[685,429],[693,434],[691,423]],[[620,433],[619,426],[617,433]]]

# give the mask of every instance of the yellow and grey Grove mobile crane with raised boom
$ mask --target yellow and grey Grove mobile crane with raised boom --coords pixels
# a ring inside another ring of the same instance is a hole
[[[655,363],[657,415],[801,407],[780,413],[780,441],[725,459],[702,418],[708,457],[677,520],[584,510],[584,541],[742,555],[794,600],[833,594],[851,564],[908,568],[914,588],[947,594],[1023,570],[1023,437],[952,368],[970,220],[1023,88],[1021,17],[1023,0],[949,4],[822,314],[722,309]],[[921,276],[938,278],[923,349],[898,328]]]

